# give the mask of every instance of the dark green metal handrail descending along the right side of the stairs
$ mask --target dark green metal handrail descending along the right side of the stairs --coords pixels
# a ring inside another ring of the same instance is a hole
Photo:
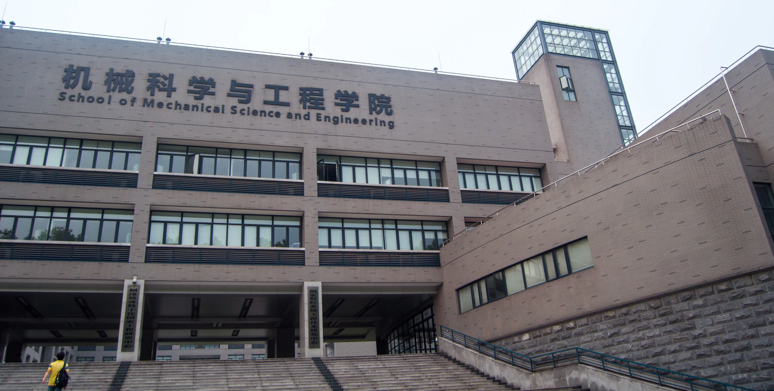
[[[445,326],[440,326],[440,338],[471,348],[482,355],[488,355],[499,362],[528,369],[530,372],[540,372],[548,369],[560,368],[567,365],[585,364],[602,369],[605,372],[615,372],[618,375],[628,376],[631,379],[645,380],[658,383],[659,386],[667,386],[684,391],[708,391],[722,389],[724,391],[744,390],[753,391],[742,386],[734,386],[725,382],[704,379],[687,373],[670,371],[652,365],[642,364],[619,358],[604,353],[594,352],[584,348],[567,348],[556,352],[543,353],[542,355],[522,355],[512,350],[492,345],[486,341],[454,331]]]

